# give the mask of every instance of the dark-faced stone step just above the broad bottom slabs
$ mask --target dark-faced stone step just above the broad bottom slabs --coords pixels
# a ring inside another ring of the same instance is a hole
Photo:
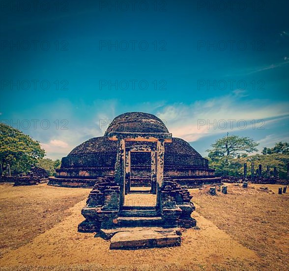
[[[119,216],[117,219],[117,227],[159,227],[163,225],[160,216],[153,217],[124,217]]]

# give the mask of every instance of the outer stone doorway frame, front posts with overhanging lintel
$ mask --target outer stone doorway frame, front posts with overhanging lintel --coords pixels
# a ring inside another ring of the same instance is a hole
[[[152,156],[155,156],[153,161],[155,161],[154,169],[155,169],[155,177],[153,180],[156,180],[156,206],[160,206],[160,193],[158,190],[163,186],[164,182],[164,154],[165,154],[165,143],[172,142],[172,134],[171,133],[131,133],[131,132],[111,132],[108,135],[110,140],[117,140],[117,155],[116,155],[116,175],[115,181],[116,184],[120,187],[120,195],[119,195],[119,210],[122,209],[124,204],[125,197],[125,176],[126,170],[130,172],[130,169],[127,167],[126,159],[126,147],[125,142],[127,141],[145,141],[145,142],[156,142],[156,150],[150,150]],[[133,148],[133,147],[132,147]],[[129,155],[129,153],[127,154]],[[152,163],[152,162],[151,162]],[[151,172],[153,170],[151,169]],[[152,175],[152,173],[151,173]],[[152,180],[152,181],[153,181]]]

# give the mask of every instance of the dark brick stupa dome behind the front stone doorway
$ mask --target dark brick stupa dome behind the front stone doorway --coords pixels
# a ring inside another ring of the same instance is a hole
[[[50,177],[49,184],[65,187],[92,188],[99,177],[115,176],[117,141],[110,140],[112,132],[165,133],[169,131],[156,116],[141,112],[124,113],[117,116],[104,136],[93,137],[75,147],[62,158],[56,177]],[[128,186],[140,187],[153,184],[155,141],[126,142],[126,177]],[[180,185],[196,188],[202,184],[220,183],[209,169],[208,161],[185,140],[171,137],[164,145],[164,176],[171,177]]]

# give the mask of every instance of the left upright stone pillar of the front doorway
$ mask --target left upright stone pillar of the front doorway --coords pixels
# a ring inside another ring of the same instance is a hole
[[[120,187],[120,206],[124,203],[124,185],[125,185],[125,140],[117,139],[116,154],[116,183]]]

